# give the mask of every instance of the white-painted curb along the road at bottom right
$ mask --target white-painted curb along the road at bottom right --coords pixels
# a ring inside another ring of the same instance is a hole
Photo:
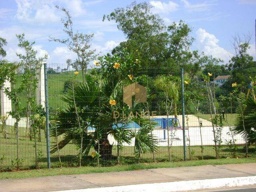
[[[137,184],[126,186],[65,190],[59,192],[177,192],[210,188],[239,187],[254,184],[256,184],[256,176]]]

